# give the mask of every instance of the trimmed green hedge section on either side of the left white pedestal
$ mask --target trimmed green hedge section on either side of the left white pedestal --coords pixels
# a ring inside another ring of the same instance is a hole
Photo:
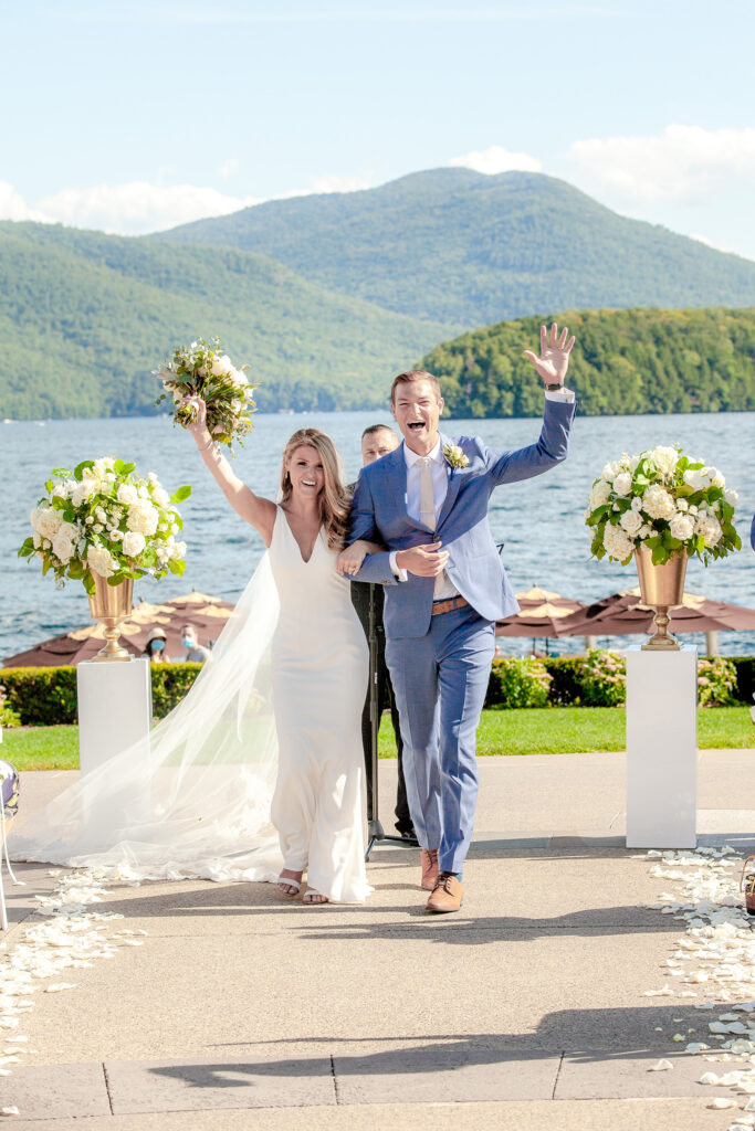
[[[183,699],[201,664],[153,664],[152,705],[155,718],[164,718]],[[57,726],[76,723],[75,667],[3,667],[8,706],[20,715],[22,726]]]

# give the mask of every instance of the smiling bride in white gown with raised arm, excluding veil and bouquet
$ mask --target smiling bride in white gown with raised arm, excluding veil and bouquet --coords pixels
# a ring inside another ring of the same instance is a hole
[[[368,649],[350,587],[336,570],[349,523],[338,456],[318,429],[294,432],[276,504],[239,480],[213,442],[203,402],[198,409],[189,431],[228,501],[268,547],[280,597],[272,650],[278,768],[271,810],[283,855],[278,889],[294,897],[306,871],[306,904],[361,903],[370,891],[361,743]]]

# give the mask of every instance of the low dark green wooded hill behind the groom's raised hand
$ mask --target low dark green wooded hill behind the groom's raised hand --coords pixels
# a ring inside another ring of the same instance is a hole
[[[554,314],[576,336],[568,383],[587,416],[755,411],[755,308],[583,310]],[[541,382],[522,356],[540,319],[463,334],[422,361],[448,413],[540,416]]]

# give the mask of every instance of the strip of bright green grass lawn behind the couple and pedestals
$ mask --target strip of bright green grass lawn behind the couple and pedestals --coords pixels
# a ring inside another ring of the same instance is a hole
[[[544,707],[486,710],[478,731],[480,754],[569,754],[587,750],[624,750],[625,713],[617,707]],[[755,746],[747,707],[698,711],[701,749]],[[380,727],[380,758],[395,758],[388,716]],[[78,728],[31,726],[5,731],[0,758],[20,770],[78,769]]]

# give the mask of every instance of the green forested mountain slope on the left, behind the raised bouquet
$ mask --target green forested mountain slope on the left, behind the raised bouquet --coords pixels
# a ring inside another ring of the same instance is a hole
[[[152,370],[214,334],[261,379],[261,408],[377,406],[400,368],[458,329],[248,251],[0,223],[0,417],[153,412]]]

